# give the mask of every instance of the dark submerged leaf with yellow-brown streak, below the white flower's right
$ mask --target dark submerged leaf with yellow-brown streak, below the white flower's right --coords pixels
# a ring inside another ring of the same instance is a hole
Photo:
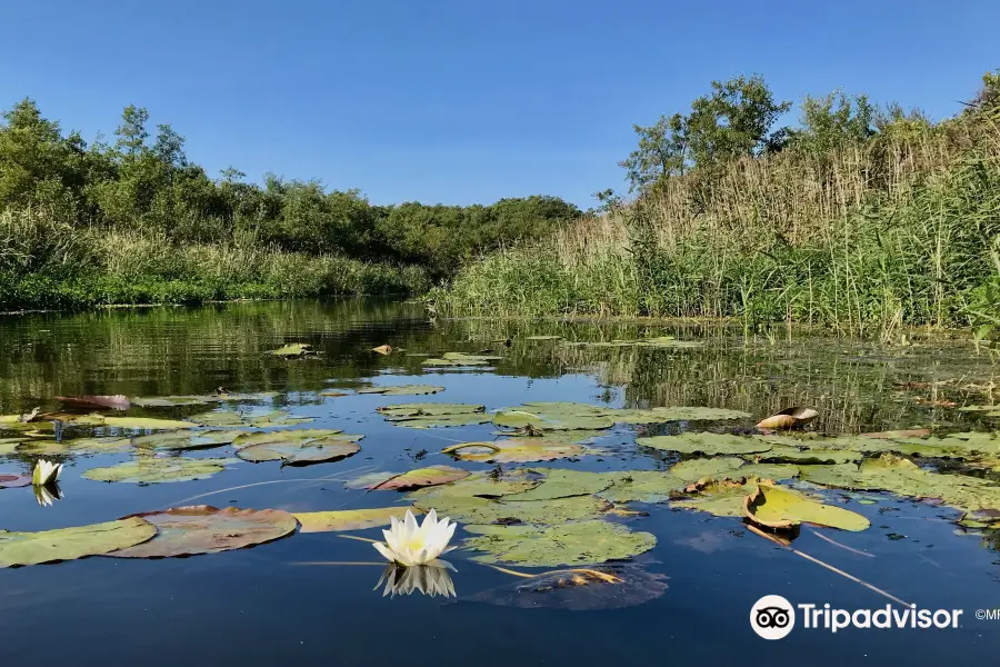
[[[542,573],[530,579],[483,590],[467,599],[522,609],[621,609],[663,595],[667,590],[666,578],[666,575],[648,573],[634,565],[599,565]]]

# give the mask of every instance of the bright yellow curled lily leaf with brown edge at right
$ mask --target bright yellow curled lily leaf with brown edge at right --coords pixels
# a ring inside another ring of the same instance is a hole
[[[743,516],[774,530],[789,530],[802,522],[853,531],[871,526],[868,519],[849,509],[824,505],[791,489],[763,484],[743,499]]]

